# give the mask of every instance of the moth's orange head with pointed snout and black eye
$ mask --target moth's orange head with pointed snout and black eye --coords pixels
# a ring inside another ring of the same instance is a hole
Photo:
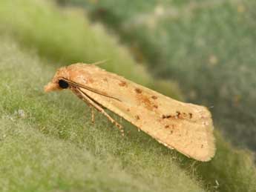
[[[69,85],[65,79],[68,79],[68,71],[66,67],[62,67],[57,70],[51,82],[45,85],[45,92],[67,89]]]

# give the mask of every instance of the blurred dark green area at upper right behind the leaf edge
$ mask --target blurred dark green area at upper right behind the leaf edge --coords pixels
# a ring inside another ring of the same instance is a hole
[[[147,61],[156,76],[183,85],[189,102],[211,107],[236,145],[256,151],[256,1],[82,1]]]

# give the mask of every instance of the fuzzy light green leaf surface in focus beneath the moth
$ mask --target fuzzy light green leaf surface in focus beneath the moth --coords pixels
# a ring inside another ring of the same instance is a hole
[[[220,134],[216,133],[214,159],[199,163],[165,148],[128,123],[122,122],[130,132],[125,138],[98,113],[91,125],[90,110],[79,99],[68,92],[43,93],[53,67],[22,53],[13,42],[0,42],[1,191],[256,188],[252,157],[234,150]],[[17,67],[19,70],[13,70]]]

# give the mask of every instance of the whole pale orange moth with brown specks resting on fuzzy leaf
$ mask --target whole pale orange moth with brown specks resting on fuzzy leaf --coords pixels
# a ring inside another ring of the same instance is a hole
[[[122,133],[105,109],[111,110],[168,148],[209,161],[215,153],[214,126],[206,107],[179,102],[110,73],[96,64],[71,64],[57,70],[45,92],[69,89],[103,113]]]

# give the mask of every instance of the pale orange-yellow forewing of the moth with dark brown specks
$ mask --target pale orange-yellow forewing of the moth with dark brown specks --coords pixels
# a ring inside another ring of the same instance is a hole
[[[206,107],[178,102],[105,70],[94,71],[90,78],[93,83],[88,86],[118,100],[81,87],[83,92],[158,142],[200,161],[214,156],[213,125]]]

